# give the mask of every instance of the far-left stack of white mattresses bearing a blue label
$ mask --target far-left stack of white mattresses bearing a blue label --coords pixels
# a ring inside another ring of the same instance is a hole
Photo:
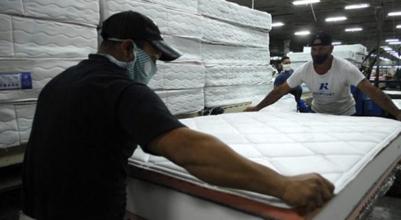
[[[0,1],[0,148],[28,141],[41,88],[96,51],[97,23],[98,0]]]

